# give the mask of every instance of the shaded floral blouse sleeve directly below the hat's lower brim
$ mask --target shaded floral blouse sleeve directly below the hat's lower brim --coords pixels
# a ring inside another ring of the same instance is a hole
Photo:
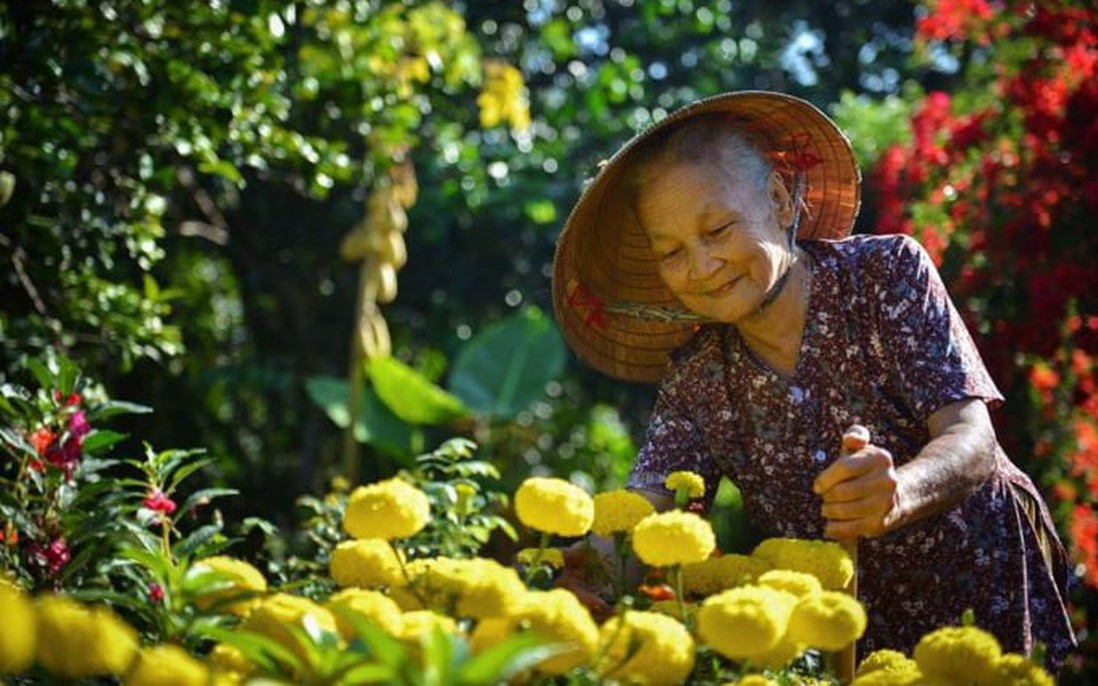
[[[682,370],[680,370],[682,372]],[[628,488],[671,495],[663,487],[668,475],[691,471],[705,479],[705,504],[713,501],[720,482],[720,470],[710,459],[701,428],[694,419],[684,379],[688,374],[672,373],[660,387],[645,442],[626,484]]]

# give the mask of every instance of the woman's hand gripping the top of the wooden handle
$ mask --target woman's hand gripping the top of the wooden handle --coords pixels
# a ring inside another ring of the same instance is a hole
[[[849,446],[847,439],[854,434],[858,431],[851,427],[844,443]],[[824,536],[873,538],[888,531],[899,519],[899,485],[892,453],[862,440],[856,450],[836,460],[813,483],[824,499]]]

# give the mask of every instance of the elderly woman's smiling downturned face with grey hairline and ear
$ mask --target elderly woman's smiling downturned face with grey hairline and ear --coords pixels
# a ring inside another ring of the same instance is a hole
[[[635,207],[660,277],[702,316],[736,324],[787,268],[792,202],[777,175],[760,184],[680,164],[647,181]]]

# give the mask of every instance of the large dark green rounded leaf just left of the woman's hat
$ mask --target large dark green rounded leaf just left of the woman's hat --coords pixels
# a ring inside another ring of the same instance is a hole
[[[458,353],[455,395],[477,412],[512,418],[542,396],[564,370],[564,342],[537,307],[493,324]]]

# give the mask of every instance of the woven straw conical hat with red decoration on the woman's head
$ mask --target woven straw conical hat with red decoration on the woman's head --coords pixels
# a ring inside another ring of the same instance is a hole
[[[739,91],[699,100],[624,145],[572,209],[553,258],[553,310],[564,339],[585,363],[637,382],[658,382],[669,353],[696,324],[607,311],[607,303],[683,310],[663,285],[658,260],[621,188],[634,151],[652,135],[701,114],[735,117],[766,153],[800,155],[805,193],[798,238],[850,235],[861,204],[861,172],[850,142],[811,103],[772,91]]]

